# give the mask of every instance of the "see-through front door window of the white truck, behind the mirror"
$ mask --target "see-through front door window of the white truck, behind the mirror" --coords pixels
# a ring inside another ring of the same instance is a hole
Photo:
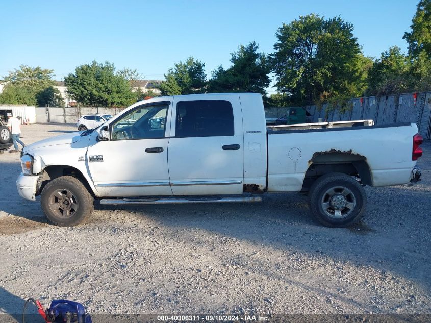
[[[141,106],[114,122],[113,140],[151,139],[165,136],[168,105]]]

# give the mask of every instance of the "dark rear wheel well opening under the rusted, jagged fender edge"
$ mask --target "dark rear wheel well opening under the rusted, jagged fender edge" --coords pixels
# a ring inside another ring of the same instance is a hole
[[[307,192],[317,178],[331,172],[345,173],[359,178],[362,185],[372,185],[371,171],[364,156],[351,151],[329,151],[313,155],[301,191]]]

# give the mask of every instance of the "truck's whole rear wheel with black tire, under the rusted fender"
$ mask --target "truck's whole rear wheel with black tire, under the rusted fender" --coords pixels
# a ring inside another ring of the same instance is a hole
[[[328,173],[319,177],[308,195],[314,218],[331,228],[345,228],[356,223],[364,213],[366,203],[364,188],[344,173]]]

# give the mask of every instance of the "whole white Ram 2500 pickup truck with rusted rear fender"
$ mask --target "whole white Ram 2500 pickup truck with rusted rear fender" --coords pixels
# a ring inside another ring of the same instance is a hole
[[[95,129],[27,145],[19,194],[50,221],[74,226],[100,204],[259,202],[308,192],[314,217],[346,227],[364,212],[363,186],[416,182],[414,123],[372,120],[267,127],[260,94],[150,98]]]

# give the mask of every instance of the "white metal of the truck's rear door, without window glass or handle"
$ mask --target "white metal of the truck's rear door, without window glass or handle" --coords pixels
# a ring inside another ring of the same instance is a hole
[[[242,120],[239,95],[182,95],[174,98],[169,139],[169,176],[173,195],[241,194],[244,177],[242,122],[234,122],[233,136],[176,137],[178,104],[199,100],[229,101],[234,120]],[[222,146],[239,144],[238,150]],[[185,149],[187,147],[187,149]]]

